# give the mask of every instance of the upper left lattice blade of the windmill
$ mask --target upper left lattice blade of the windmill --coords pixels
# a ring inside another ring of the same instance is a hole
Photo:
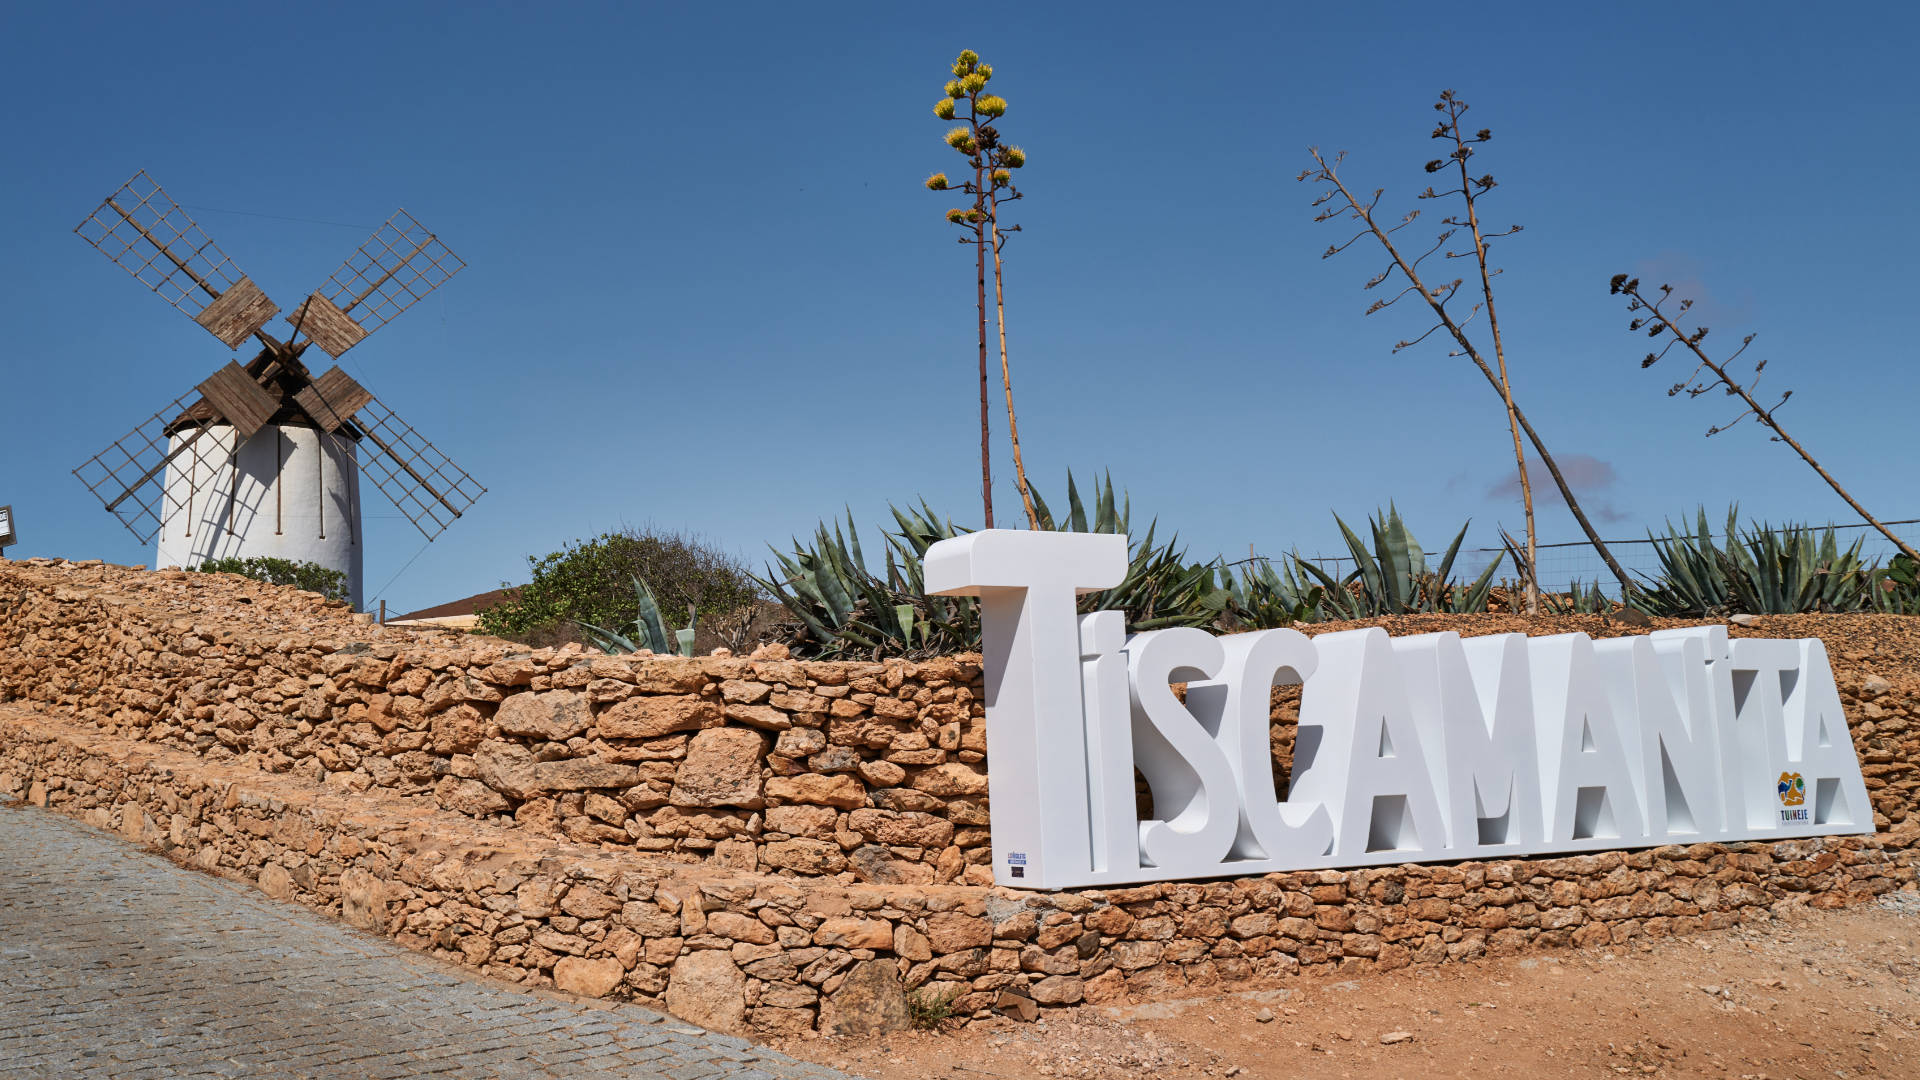
[[[280,309],[144,169],[73,231],[227,348]]]

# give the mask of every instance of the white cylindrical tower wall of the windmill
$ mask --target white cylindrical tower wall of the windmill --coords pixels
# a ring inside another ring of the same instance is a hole
[[[359,465],[353,440],[311,427],[265,425],[230,454],[217,425],[167,465],[169,507],[156,567],[257,557],[319,563],[348,575],[361,605]],[[179,448],[175,436],[169,450]]]

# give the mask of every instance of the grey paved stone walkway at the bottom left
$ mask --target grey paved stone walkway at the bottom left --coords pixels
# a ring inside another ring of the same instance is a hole
[[[0,1076],[843,1074],[651,1009],[465,978],[71,819],[0,809]]]

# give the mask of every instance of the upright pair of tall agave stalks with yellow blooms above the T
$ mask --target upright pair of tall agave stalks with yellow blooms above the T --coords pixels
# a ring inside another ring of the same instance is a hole
[[[1020,454],[1020,421],[1014,415],[1014,375],[1006,357],[1006,286],[1002,250],[1020,225],[1000,225],[1000,204],[1021,198],[1014,186],[1014,169],[1027,163],[1027,154],[1020,146],[1000,142],[1000,133],[991,121],[1006,115],[1006,98],[987,92],[993,79],[993,65],[983,63],[979,54],[964,50],[952,65],[954,77],[947,81],[947,96],[933,106],[933,115],[941,119],[960,119],[960,127],[947,133],[947,146],[968,160],[973,179],[952,186],[947,173],[927,177],[927,190],[956,190],[973,196],[972,208],[947,211],[947,221],[956,225],[962,244],[973,246],[975,298],[979,309],[979,473],[981,502],[985,503],[987,528],[993,528],[993,450],[989,432],[989,392],[987,392],[987,250],[993,250],[993,302],[1000,329],[1000,384],[1006,388],[1006,430],[1014,444],[1014,482],[1020,486],[1020,502],[1027,511],[1027,528],[1039,528],[1039,515],[1033,509],[1033,488],[1027,486],[1027,465]],[[962,108],[966,111],[962,111]]]

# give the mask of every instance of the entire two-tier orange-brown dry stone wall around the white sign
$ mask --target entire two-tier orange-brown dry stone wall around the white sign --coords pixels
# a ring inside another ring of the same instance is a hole
[[[910,994],[1031,1015],[1912,888],[1920,684],[1837,667],[1876,838],[1033,894],[973,855],[968,657],[530,653],[236,578],[0,563],[0,798],[493,976],[870,1034]]]

